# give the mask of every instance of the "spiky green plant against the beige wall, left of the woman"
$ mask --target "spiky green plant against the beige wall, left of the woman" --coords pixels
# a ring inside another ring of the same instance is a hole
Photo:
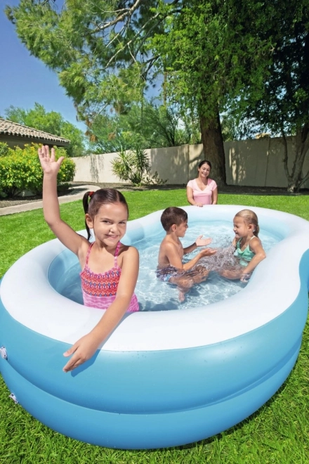
[[[159,179],[157,172],[151,176],[150,169],[149,157],[140,147],[129,151],[121,149],[112,161],[112,172],[121,181],[130,181],[134,186],[163,185],[167,182],[167,179]]]

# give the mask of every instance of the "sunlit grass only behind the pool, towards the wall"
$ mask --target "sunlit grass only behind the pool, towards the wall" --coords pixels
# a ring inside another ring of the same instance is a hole
[[[129,203],[130,219],[137,219],[169,206],[188,205],[185,190],[124,192]],[[309,220],[309,195],[219,195],[221,205],[244,205],[270,208],[297,214]],[[84,228],[81,200],[60,205],[61,215],[75,230]],[[54,236],[45,224],[42,210],[34,210],[0,217],[1,246],[0,276],[22,254]],[[5,245],[4,245],[5,244]],[[11,244],[6,245],[6,244]]]

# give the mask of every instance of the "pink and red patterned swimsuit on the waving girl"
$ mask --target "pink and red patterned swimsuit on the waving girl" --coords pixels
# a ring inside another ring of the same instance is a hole
[[[84,305],[93,308],[107,309],[116,298],[121,268],[117,264],[120,242],[114,252],[114,267],[110,271],[96,274],[88,267],[88,259],[93,243],[88,248],[86,264],[81,271],[81,290],[83,292]],[[126,312],[139,311],[138,299],[133,293],[129,308]]]

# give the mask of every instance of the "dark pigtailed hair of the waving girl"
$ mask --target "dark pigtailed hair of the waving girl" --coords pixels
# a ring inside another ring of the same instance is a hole
[[[107,203],[121,203],[126,207],[129,217],[129,207],[126,202],[126,198],[122,195],[121,192],[115,190],[114,188],[99,188],[96,192],[86,192],[83,197],[83,206],[85,214],[94,219],[98,214],[100,207],[106,205]],[[91,232],[86,223],[86,231],[88,233],[88,240],[91,237]]]

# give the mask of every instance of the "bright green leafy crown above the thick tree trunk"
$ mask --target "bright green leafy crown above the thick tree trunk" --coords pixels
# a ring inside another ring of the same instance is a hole
[[[253,0],[181,4],[180,14],[166,21],[169,33],[157,34],[152,49],[164,62],[166,96],[214,120],[244,86],[258,92],[263,85],[272,39],[260,32],[268,27],[275,5]]]

